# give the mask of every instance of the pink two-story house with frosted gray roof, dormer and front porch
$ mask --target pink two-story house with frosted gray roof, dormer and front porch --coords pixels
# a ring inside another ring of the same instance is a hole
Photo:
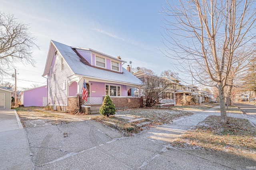
[[[102,104],[105,95],[126,101],[118,107],[138,107],[137,99],[129,99],[128,90],[142,83],[122,67],[120,56],[112,57],[89,48],[70,47],[50,42],[43,76],[47,78],[48,105],[55,110],[81,109],[82,105]],[[88,102],[82,100],[82,85],[86,81]]]

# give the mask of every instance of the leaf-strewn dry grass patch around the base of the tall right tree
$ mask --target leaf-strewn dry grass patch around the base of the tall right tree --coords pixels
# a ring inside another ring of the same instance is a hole
[[[229,124],[222,125],[220,116],[211,115],[171,145],[186,149],[256,153],[256,129],[247,119],[230,117]]]

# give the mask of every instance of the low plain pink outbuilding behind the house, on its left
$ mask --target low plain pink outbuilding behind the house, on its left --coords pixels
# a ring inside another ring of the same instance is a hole
[[[24,106],[46,106],[47,87],[41,86],[20,92],[21,104]]]

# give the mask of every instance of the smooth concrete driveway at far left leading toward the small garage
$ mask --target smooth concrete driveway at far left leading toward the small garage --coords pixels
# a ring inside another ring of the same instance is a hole
[[[0,170],[33,168],[25,130],[13,109],[0,109],[0,150]]]

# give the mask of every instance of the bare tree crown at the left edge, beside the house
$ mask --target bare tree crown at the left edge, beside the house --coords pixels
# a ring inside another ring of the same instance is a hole
[[[0,75],[8,74],[15,63],[32,64],[32,47],[35,37],[29,31],[29,25],[17,21],[12,14],[0,12]],[[36,45],[36,47],[38,47]]]

